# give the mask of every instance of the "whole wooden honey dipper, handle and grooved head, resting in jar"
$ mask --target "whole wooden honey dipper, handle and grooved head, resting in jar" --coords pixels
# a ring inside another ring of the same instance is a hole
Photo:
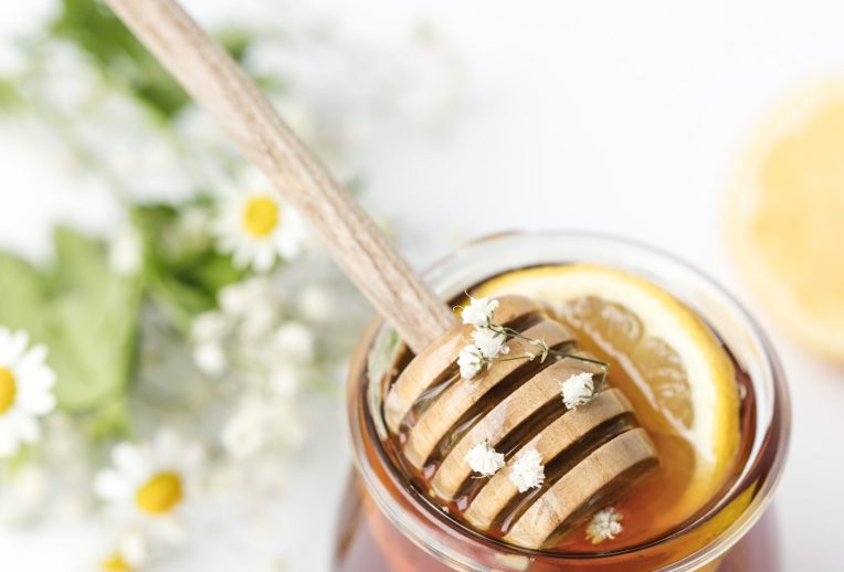
[[[471,331],[392,250],[348,192],[289,130],[272,105],[229,54],[182,10],[175,0],[107,0],[115,12],[149,47],[181,85],[222,125],[250,160],[259,167],[321,236],[347,276],[416,353],[391,388],[384,407],[390,431],[400,430],[420,398],[453,371]],[[523,297],[504,297],[496,324],[524,327],[526,336],[550,347],[570,347],[573,336],[537,304]],[[526,351],[524,340],[508,342],[514,353]],[[538,361],[538,360],[537,360]],[[421,468],[442,454],[433,480],[434,494],[452,498],[470,474],[462,462],[475,438],[499,443],[518,426],[559,399],[559,377],[593,371],[571,358],[536,364],[526,360],[497,363],[477,379],[458,379],[433,400],[410,427],[403,449],[407,462]],[[500,389],[505,388],[505,394]],[[495,391],[494,391],[495,390]],[[498,395],[494,400],[493,395]],[[467,415],[474,425],[466,427]],[[541,495],[523,502],[523,510],[505,540],[540,548],[569,519],[601,508],[627,477],[656,462],[653,444],[642,428],[608,423],[633,416],[618,390],[600,393],[589,404],[557,414],[524,447],[539,451],[544,462],[565,458],[583,439],[600,446],[566,470],[546,480]],[[613,431],[602,433],[602,427]],[[461,438],[456,438],[462,434]],[[447,451],[443,443],[453,441]],[[523,448],[524,448],[523,447]],[[518,500],[506,479],[514,459],[484,483],[465,512],[465,519],[485,530]]]

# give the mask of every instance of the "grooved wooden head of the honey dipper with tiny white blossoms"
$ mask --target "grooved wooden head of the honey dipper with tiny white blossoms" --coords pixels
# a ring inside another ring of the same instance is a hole
[[[465,507],[451,513],[473,528],[538,549],[588,517],[589,508],[601,508],[597,499],[612,501],[657,457],[619,389],[566,409],[563,380],[583,372],[598,380],[604,371],[582,359],[591,357],[568,328],[528,298],[498,301],[492,324],[507,331],[502,353],[462,378],[456,361],[473,329],[455,326],[410,361],[388,392],[384,417],[421,490]],[[542,356],[536,340],[550,351]],[[505,456],[489,478],[473,478],[466,460],[478,444]],[[539,490],[525,490],[514,478],[528,454],[541,467],[542,478],[530,483]]]

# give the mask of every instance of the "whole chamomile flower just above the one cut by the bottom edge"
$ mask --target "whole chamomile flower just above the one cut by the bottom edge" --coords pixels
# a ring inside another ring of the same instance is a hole
[[[150,443],[120,443],[112,451],[113,466],[97,474],[96,494],[116,516],[155,536],[181,538],[179,517],[196,494],[202,462],[198,445],[160,432]]]

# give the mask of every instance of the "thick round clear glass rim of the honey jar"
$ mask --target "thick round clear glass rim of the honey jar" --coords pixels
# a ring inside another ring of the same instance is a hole
[[[529,255],[526,255],[525,252],[529,252]],[[486,259],[490,255],[495,255],[494,264]],[[541,264],[576,262],[605,264],[633,272],[661,285],[689,305],[695,311],[704,315],[704,317],[706,317],[707,313],[711,314],[717,310],[721,313],[724,319],[729,318],[731,320],[731,328],[734,330],[730,332],[721,331],[718,328],[719,325],[711,324],[711,320],[707,321],[710,322],[710,327],[718,330],[717,333],[721,338],[725,338],[725,333],[730,333],[734,343],[735,340],[739,340],[743,346],[747,346],[747,351],[743,354],[737,356],[737,359],[740,362],[745,361],[741,366],[750,373],[755,391],[760,392],[762,398],[767,400],[757,404],[757,407],[764,405],[766,409],[764,411],[757,412],[755,443],[745,466],[739,476],[732,481],[729,490],[705,512],[685,522],[681,528],[669,531],[657,539],[613,552],[583,554],[523,549],[485,537],[457,522],[455,519],[446,519],[447,525],[455,532],[464,534],[464,542],[479,542],[482,549],[489,550],[492,548],[507,554],[541,558],[557,563],[567,561],[582,563],[585,560],[594,561],[630,555],[631,553],[664,547],[666,543],[682,539],[710,520],[732,499],[737,498],[739,494],[747,490],[751,486],[748,480],[756,478],[752,498],[743,508],[741,515],[705,545],[661,568],[661,570],[696,569],[724,554],[747,533],[761,518],[779,484],[782,467],[788,455],[791,424],[790,402],[782,368],[770,342],[753,318],[718,283],[713,280],[706,273],[671,253],[629,239],[578,231],[498,233],[481,237],[456,248],[432,265],[425,273],[425,277],[437,294],[450,299],[458,295],[466,287],[502,272]],[[685,292],[677,292],[684,288]],[[690,288],[695,288],[700,299],[690,298],[693,294],[689,292]],[[709,307],[700,307],[704,298],[706,298],[706,304],[710,305]],[[355,458],[358,472],[363,476],[363,480],[370,492],[372,492],[379,508],[388,515],[393,525],[402,530],[411,540],[422,545],[422,548],[436,553],[453,565],[472,568],[466,559],[461,559],[460,554],[449,553],[445,550],[447,547],[440,545],[441,542],[434,540],[430,534],[425,538],[425,527],[414,526],[413,522],[409,521],[409,516],[402,513],[401,504],[397,502],[399,499],[395,498],[395,495],[403,496],[405,501],[409,500],[409,497],[413,497],[410,500],[418,505],[414,511],[416,519],[422,518],[422,520],[426,520],[435,518],[440,519],[442,525],[442,513],[424,495],[414,495],[412,488],[408,488],[402,495],[400,489],[402,481],[405,479],[402,478],[402,475],[399,475],[397,468],[388,458],[379,438],[379,435],[383,436],[384,430],[377,426],[377,417],[368,414],[372,404],[370,402],[370,394],[367,391],[370,382],[366,377],[368,371],[366,358],[368,358],[372,348],[377,346],[376,342],[379,336],[386,336],[390,331],[391,329],[388,326],[377,321],[361,339],[356,350],[357,366],[354,366],[350,370],[349,378],[352,457]],[[731,351],[735,351],[734,345],[727,343],[727,346]],[[755,361],[752,363],[748,362],[751,359]],[[361,384],[361,379],[367,381]],[[357,388],[359,391],[356,391],[356,386],[359,384],[362,386]],[[358,405],[357,407],[355,406],[356,404]],[[362,419],[360,417],[361,415]],[[382,465],[380,468],[383,470],[372,470],[371,462],[376,459],[370,458],[370,455],[367,454],[366,447],[363,447],[365,443],[361,441],[365,438],[368,438],[373,444],[374,449],[378,452],[378,457],[380,457],[377,460]],[[760,467],[759,462],[762,458],[770,458],[770,465]],[[760,468],[763,470],[761,474],[758,474]],[[386,486],[387,484],[382,477],[389,477],[392,480],[391,486]],[[428,511],[429,515],[423,515],[419,509]]]

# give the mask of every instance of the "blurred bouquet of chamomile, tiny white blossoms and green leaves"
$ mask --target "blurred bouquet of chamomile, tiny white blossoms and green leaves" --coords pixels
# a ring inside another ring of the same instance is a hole
[[[389,60],[352,78],[355,50],[313,22],[287,25],[218,36],[349,184],[373,121],[436,119],[452,102],[454,70],[430,34],[402,57],[423,70]],[[189,533],[202,499],[281,492],[306,431],[297,399],[339,393],[368,310],[97,1],[64,0],[21,41],[0,108],[42,120],[122,221],[107,240],[56,227],[46,266],[0,253],[0,522],[97,518],[103,566],[135,569]]]

